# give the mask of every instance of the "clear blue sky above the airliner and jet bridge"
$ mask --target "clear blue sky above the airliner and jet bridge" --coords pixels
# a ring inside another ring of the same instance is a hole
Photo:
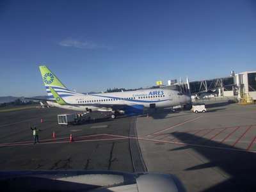
[[[0,97],[147,88],[256,70],[256,1],[0,1]]]

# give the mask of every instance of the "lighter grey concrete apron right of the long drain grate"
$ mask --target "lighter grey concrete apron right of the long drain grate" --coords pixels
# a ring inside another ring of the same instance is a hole
[[[138,117],[148,172],[172,173],[188,191],[256,191],[256,105],[206,108]]]

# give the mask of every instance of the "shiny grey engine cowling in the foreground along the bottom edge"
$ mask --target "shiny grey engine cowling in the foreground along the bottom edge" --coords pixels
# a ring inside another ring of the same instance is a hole
[[[104,170],[0,171],[0,184],[3,191],[186,191],[174,175]]]

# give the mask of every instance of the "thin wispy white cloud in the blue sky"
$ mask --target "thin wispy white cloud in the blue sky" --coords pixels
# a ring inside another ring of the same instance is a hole
[[[63,47],[76,47],[79,49],[110,49],[111,47],[76,38],[67,38],[58,43]]]

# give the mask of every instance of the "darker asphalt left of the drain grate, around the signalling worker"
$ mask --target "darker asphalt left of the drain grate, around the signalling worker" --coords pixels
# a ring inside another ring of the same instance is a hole
[[[111,120],[98,113],[83,124],[58,125],[57,115],[65,113],[76,111],[35,108],[1,112],[0,170],[134,171],[128,138],[131,117]],[[41,130],[40,143],[33,144],[29,124]],[[69,141],[70,134],[74,142]]]

